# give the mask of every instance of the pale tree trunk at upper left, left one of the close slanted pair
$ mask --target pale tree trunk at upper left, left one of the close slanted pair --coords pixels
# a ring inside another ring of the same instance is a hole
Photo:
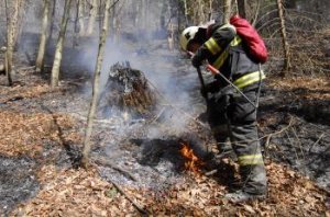
[[[41,39],[40,46],[37,52],[37,57],[35,61],[35,70],[36,72],[43,71],[44,68],[44,56],[46,49],[46,41],[47,41],[47,27],[50,22],[50,0],[44,0],[44,13],[43,13],[43,22],[42,22],[42,30],[41,30]]]

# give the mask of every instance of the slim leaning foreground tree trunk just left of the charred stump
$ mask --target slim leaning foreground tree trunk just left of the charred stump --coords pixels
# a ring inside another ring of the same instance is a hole
[[[101,73],[103,54],[105,54],[105,46],[106,46],[106,39],[107,39],[107,33],[108,33],[108,26],[109,26],[110,2],[111,2],[111,0],[107,0],[107,2],[106,2],[103,26],[102,26],[102,32],[100,34],[99,50],[98,50],[97,64],[96,64],[95,77],[94,77],[92,100],[91,100],[89,112],[88,112],[87,128],[86,128],[86,133],[85,133],[84,151],[82,151],[82,160],[81,160],[81,163],[85,168],[88,164],[88,157],[89,157],[89,152],[90,152],[90,136],[92,133],[92,122],[94,122],[94,117],[95,117],[95,113],[96,113],[96,108],[97,108],[98,96],[99,96],[99,80],[100,80],[100,73]]]

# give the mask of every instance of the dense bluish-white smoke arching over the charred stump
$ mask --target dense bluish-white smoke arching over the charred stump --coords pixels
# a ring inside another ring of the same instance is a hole
[[[184,59],[178,52],[168,50],[166,41],[162,43],[161,48],[153,49],[158,46],[157,42],[114,44],[108,39],[100,79],[100,87],[103,90],[110,67],[125,61],[129,61],[133,69],[145,75],[150,88],[160,99],[155,115],[162,117],[161,125],[152,124],[145,129],[148,138],[163,137],[165,128],[167,132],[169,128],[176,135],[186,133],[187,124],[191,121],[187,114],[196,112],[196,105],[200,103],[197,75],[190,67],[189,60]],[[90,43],[78,59],[81,66],[85,65],[92,72],[97,57],[97,42]],[[190,114],[194,115],[196,114]],[[125,129],[120,130],[124,135]]]

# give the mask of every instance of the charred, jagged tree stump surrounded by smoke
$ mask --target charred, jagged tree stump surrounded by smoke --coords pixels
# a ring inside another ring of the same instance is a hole
[[[99,100],[101,116],[113,113],[128,113],[132,117],[151,116],[156,106],[156,96],[147,79],[140,70],[132,69],[130,64],[114,64]]]

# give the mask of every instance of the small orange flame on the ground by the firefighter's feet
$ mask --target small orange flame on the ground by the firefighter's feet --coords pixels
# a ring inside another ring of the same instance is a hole
[[[204,162],[194,153],[194,150],[189,147],[188,144],[182,144],[183,148],[180,153],[186,158],[185,168],[188,171],[194,173],[200,173],[200,167],[204,165]]]

